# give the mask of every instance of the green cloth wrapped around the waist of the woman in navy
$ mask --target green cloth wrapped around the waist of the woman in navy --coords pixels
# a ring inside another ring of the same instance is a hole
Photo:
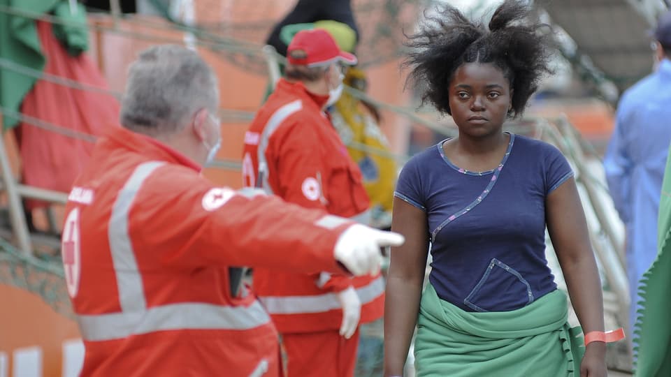
[[[417,376],[579,376],[582,330],[567,318],[561,290],[514,311],[479,313],[440,300],[429,284],[414,341]]]

